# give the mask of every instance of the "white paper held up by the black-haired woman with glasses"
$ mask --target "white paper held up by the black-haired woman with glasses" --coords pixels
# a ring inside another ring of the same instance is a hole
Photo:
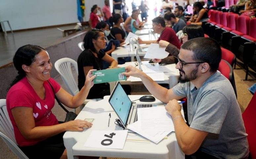
[[[151,43],[148,47],[146,55],[144,58],[158,58],[163,59],[169,55],[168,52],[165,51],[165,48],[159,48],[159,44]]]

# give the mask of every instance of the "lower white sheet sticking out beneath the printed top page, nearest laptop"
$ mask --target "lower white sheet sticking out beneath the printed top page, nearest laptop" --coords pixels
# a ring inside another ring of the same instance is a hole
[[[139,127],[138,121],[128,125],[127,128],[136,132],[137,134],[140,134],[141,136],[149,139],[150,141],[156,144],[159,143],[165,136],[167,136],[171,132],[171,131],[159,131],[159,132],[143,131],[141,130],[141,127]]]

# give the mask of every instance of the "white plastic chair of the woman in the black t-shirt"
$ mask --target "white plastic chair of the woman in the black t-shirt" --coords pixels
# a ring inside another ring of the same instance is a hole
[[[71,70],[71,64],[75,67],[76,73],[78,74],[78,67],[77,62],[71,58],[61,58],[58,59],[54,66],[55,69],[58,71],[58,73],[61,76],[61,79],[63,80],[64,84],[68,88],[71,95],[76,95],[79,92],[77,83],[73,77],[72,70]],[[84,104],[90,102],[90,101],[99,101],[101,99],[86,99]],[[80,107],[81,110],[83,107]]]

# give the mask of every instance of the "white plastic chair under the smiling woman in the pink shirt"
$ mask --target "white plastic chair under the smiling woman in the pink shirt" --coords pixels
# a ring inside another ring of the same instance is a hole
[[[0,99],[0,137],[18,158],[28,159],[28,157],[17,146],[13,125],[6,109],[5,99]]]

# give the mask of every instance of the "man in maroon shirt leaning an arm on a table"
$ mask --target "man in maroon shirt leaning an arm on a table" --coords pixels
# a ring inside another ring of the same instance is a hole
[[[168,41],[169,43],[180,49],[180,42],[172,28],[165,26],[165,19],[163,17],[156,17],[152,20],[154,33],[160,34],[158,40],[142,41],[138,38],[140,44],[158,43],[160,40]]]

